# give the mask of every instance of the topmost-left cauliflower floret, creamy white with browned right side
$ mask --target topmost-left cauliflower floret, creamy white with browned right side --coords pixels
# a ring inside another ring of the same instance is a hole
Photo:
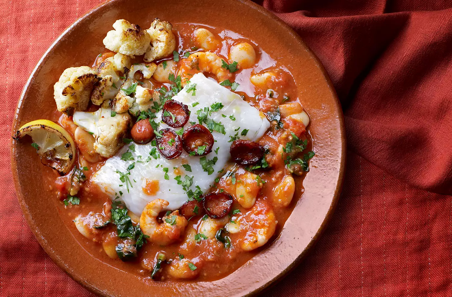
[[[110,51],[127,56],[144,54],[151,42],[149,33],[140,26],[118,19],[113,23],[114,30],[109,31],[104,38],[104,45]]]

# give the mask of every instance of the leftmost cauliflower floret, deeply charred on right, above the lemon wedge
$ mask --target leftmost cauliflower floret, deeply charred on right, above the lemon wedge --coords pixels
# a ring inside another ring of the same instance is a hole
[[[100,77],[88,66],[71,67],[63,71],[53,86],[58,111],[72,116],[75,110],[85,111],[94,84]]]

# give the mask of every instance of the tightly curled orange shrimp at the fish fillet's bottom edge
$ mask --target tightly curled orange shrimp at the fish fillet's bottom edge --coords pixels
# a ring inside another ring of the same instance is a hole
[[[170,204],[163,199],[155,199],[146,204],[141,213],[141,231],[149,236],[148,241],[160,245],[168,245],[179,239],[187,226],[187,220],[179,215],[179,210],[175,210],[162,218],[162,223],[157,222],[157,216]]]

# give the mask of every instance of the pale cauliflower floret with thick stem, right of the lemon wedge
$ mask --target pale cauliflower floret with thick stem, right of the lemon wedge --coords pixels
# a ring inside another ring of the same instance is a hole
[[[127,137],[131,126],[131,116],[128,113],[112,116],[110,108],[100,108],[95,112],[75,112],[74,123],[92,133],[94,150],[102,157],[110,158],[124,145],[122,139]]]

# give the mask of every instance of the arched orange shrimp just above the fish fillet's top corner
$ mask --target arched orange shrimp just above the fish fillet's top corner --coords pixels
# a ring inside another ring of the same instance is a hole
[[[188,80],[198,72],[212,73],[217,77],[219,82],[232,77],[229,70],[222,68],[221,58],[210,51],[196,52],[188,56],[182,61],[179,68],[179,75],[182,79],[182,85],[186,85]]]

